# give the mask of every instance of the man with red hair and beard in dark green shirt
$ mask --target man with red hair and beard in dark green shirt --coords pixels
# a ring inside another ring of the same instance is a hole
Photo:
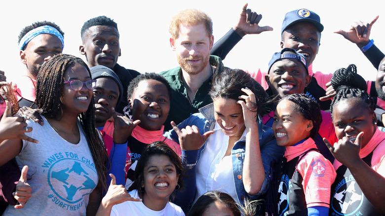
[[[175,51],[179,67],[160,72],[172,88],[171,106],[164,124],[179,124],[198,108],[211,104],[208,92],[213,74],[222,72],[224,66],[217,56],[210,56],[214,36],[211,18],[196,9],[186,9],[173,17],[169,32],[170,45]]]

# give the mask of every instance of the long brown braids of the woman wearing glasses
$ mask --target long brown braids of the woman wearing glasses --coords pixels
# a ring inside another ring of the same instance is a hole
[[[47,118],[60,120],[62,116],[62,86],[64,82],[64,74],[70,67],[80,64],[84,66],[90,77],[91,73],[88,66],[81,60],[72,55],[59,54],[53,56],[45,62],[38,74],[36,83],[36,107],[39,114]],[[92,158],[98,179],[103,187],[106,187],[107,168],[105,161],[108,158],[106,147],[100,139],[100,134],[95,125],[95,103],[92,96],[91,102],[86,112],[78,114],[78,119],[85,133],[88,147],[91,151]]]

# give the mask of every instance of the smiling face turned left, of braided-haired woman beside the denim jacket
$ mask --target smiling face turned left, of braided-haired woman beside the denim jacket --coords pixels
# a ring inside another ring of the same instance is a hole
[[[294,145],[308,138],[312,128],[312,121],[304,118],[296,104],[289,100],[278,103],[272,129],[279,146]]]

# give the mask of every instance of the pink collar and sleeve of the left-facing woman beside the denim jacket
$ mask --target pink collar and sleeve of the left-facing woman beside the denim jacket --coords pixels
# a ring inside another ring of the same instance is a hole
[[[302,144],[286,146],[285,157],[290,161],[310,148],[316,148],[316,145],[311,138],[308,138]],[[303,177],[302,185],[307,208],[313,206],[329,208],[330,187],[337,176],[330,161],[319,152],[310,151],[298,162],[297,170]]]

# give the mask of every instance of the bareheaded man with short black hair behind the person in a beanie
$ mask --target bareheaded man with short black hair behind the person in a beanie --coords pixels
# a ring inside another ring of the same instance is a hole
[[[98,16],[87,20],[81,28],[81,40],[79,47],[80,54],[85,55],[88,67],[103,65],[113,70],[123,85],[122,97],[116,107],[116,111],[123,113],[128,105],[127,87],[130,81],[140,73],[134,70],[125,69],[117,64],[121,55],[119,44],[119,31],[114,20],[106,16]]]

